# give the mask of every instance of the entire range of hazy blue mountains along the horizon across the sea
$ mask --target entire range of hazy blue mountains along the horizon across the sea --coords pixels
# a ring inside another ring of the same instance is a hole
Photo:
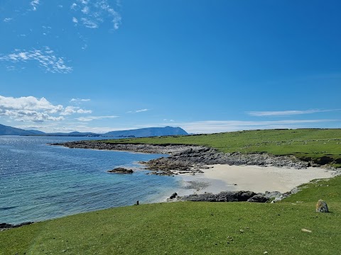
[[[29,135],[29,136],[67,136],[67,137],[155,137],[164,135],[188,135],[182,128],[139,128],[136,130],[112,131],[105,134],[92,132],[56,132],[45,133],[38,130],[23,130],[0,124],[0,135]]]

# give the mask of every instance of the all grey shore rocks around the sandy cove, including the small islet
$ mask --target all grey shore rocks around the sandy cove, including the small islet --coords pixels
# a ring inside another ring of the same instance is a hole
[[[274,156],[266,153],[242,154],[240,152],[223,153],[216,149],[197,145],[145,145],[145,144],[111,144],[105,141],[78,141],[78,142],[64,142],[52,144],[58,146],[65,146],[69,148],[81,149],[105,149],[126,152],[141,152],[151,154],[166,154],[165,157],[152,159],[148,162],[140,162],[150,170],[149,174],[174,176],[177,174],[195,175],[202,173],[202,171],[210,171],[212,167],[217,165],[229,166],[269,166],[277,168],[289,169],[307,169],[312,166],[312,162],[304,162],[293,156]],[[316,165],[317,166],[317,165]],[[205,170],[206,169],[206,170]],[[112,170],[115,173],[129,173],[129,169],[118,168]],[[274,170],[272,170],[274,171]],[[269,171],[268,171],[269,172]],[[301,171],[299,171],[301,172]],[[207,172],[205,172],[207,174]],[[239,176],[239,175],[238,175]],[[298,177],[298,176],[297,176]],[[230,177],[229,177],[230,178]],[[206,188],[209,183],[200,183],[197,181],[188,181],[190,185],[188,188],[200,191]],[[193,187],[191,187],[193,186]],[[237,184],[234,184],[237,186]],[[178,196],[174,193],[168,201],[207,201],[207,202],[232,202],[232,201],[248,201],[248,202],[276,202],[292,193],[296,193],[298,188],[293,188],[291,191],[281,193],[279,191],[265,193],[254,193],[252,191],[224,191],[217,194],[200,193],[191,194],[188,196]],[[282,191],[283,192],[283,191]]]

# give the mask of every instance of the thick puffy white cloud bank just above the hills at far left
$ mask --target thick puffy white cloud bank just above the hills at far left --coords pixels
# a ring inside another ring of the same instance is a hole
[[[0,116],[6,116],[16,121],[43,122],[45,120],[64,120],[63,116],[92,113],[75,106],[53,105],[46,98],[34,96],[13,98],[0,96]]]

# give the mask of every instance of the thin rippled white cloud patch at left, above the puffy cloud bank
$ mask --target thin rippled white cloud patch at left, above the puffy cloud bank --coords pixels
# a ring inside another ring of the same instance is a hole
[[[49,47],[43,47],[42,50],[15,50],[9,55],[0,55],[0,61],[8,61],[12,64],[33,61],[38,62],[46,72],[63,74],[72,72],[72,67],[67,67],[64,58],[56,57]]]

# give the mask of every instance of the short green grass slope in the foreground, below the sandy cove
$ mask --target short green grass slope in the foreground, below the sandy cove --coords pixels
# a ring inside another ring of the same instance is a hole
[[[341,176],[280,203],[156,203],[0,232],[0,254],[337,254]],[[323,198],[330,213],[315,212]]]

